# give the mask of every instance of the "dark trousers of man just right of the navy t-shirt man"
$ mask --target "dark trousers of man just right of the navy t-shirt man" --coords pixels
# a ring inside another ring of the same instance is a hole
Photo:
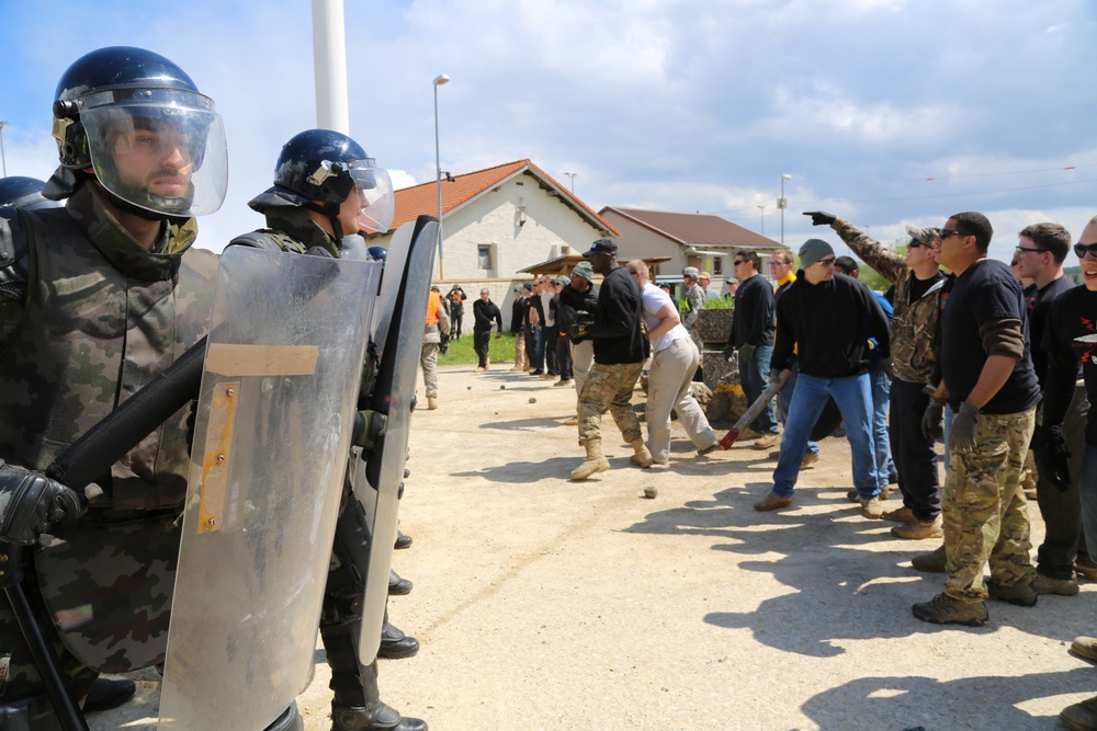
[[[1049,579],[1071,579],[1077,553],[1086,552],[1082,534],[1082,500],[1079,475],[1082,455],[1086,450],[1086,416],[1089,401],[1084,386],[1074,388],[1071,409],[1063,419],[1066,446],[1071,449],[1071,487],[1060,491],[1041,475],[1036,475],[1036,502],[1043,516],[1044,538],[1037,551],[1036,570]]]

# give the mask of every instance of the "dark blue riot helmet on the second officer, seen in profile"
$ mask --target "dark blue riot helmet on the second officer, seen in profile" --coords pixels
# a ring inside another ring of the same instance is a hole
[[[384,233],[393,221],[395,201],[388,171],[377,168],[362,146],[332,129],[308,129],[282,146],[274,165],[274,185],[252,198],[253,210],[307,208],[328,217],[336,238],[343,231],[338,215],[342,203],[357,195],[358,224]]]

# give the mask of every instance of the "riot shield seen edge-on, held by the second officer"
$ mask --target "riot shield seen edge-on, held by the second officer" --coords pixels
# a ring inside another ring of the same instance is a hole
[[[415,398],[422,331],[434,266],[438,219],[420,216],[405,224],[388,247],[381,282],[373,341],[381,355],[371,408],[385,413],[388,423],[376,447],[358,466],[354,494],[373,526],[370,564],[362,603],[359,659],[369,664],[377,655],[388,599],[388,571],[393,564],[397,514],[407,461],[408,430]]]

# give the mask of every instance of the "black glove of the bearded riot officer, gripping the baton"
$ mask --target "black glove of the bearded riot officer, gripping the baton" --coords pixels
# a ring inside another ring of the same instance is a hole
[[[30,546],[66,516],[83,514],[88,501],[42,472],[0,460],[0,540]]]

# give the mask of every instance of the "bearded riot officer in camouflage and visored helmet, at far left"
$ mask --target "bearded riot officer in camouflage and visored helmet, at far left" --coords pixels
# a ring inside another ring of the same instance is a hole
[[[75,61],[53,112],[60,167],[43,194],[68,204],[0,208],[0,541],[34,547],[22,586],[83,699],[100,672],[163,660],[190,410],[99,489],[42,470],[205,334],[217,260],[191,248],[194,217],[220,207],[227,151],[213,100],[140,48]],[[60,728],[3,597],[0,647],[0,729]]]

